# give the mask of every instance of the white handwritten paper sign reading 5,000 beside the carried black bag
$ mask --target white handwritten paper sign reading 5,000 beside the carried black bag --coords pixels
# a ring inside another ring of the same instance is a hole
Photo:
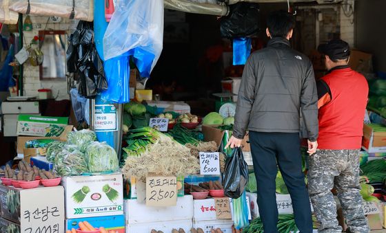
[[[220,175],[220,153],[200,152],[200,174]]]

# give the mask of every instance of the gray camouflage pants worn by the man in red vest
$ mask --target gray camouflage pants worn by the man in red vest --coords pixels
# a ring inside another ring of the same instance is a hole
[[[342,232],[331,192],[334,186],[349,230],[355,233],[369,232],[359,192],[359,150],[318,150],[309,156],[307,178],[309,197],[316,219],[321,223],[318,232]]]

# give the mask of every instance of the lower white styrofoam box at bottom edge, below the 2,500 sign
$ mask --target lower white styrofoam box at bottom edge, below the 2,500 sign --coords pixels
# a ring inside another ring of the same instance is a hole
[[[172,232],[173,229],[179,230],[179,228],[182,228],[185,232],[190,232],[190,229],[192,229],[192,227],[192,219],[161,222],[154,221],[152,223],[128,224],[126,225],[126,233],[149,233],[153,229],[157,231],[160,230],[166,233]]]

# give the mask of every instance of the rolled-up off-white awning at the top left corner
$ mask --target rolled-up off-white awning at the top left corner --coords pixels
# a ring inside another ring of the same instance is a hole
[[[73,2],[75,3],[74,5]],[[89,22],[93,21],[93,0],[30,0],[30,14],[70,18],[72,8],[74,8],[74,19],[80,19]],[[26,0],[10,1],[10,10],[13,10],[14,12],[26,14],[27,9],[28,1]]]

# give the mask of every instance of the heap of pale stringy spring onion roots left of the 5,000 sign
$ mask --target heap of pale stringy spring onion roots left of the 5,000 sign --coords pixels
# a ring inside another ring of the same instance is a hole
[[[145,127],[142,131],[158,140],[148,144],[140,157],[127,157],[122,169],[125,178],[145,180],[148,173],[179,176],[196,174],[199,171],[199,159],[190,153],[189,148],[150,127]]]

